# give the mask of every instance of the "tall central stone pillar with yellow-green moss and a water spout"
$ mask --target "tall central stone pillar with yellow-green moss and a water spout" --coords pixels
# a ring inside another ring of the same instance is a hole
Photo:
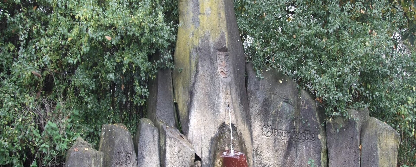
[[[173,71],[174,97],[183,134],[211,167],[211,140],[220,125],[235,124],[243,140],[241,152],[252,159],[245,55],[235,20],[233,0],[179,0],[179,27]],[[228,145],[218,143],[217,145]],[[250,163],[251,164],[251,163]]]

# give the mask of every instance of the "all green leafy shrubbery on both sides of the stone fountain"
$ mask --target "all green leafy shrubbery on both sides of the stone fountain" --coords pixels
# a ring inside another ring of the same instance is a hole
[[[0,166],[62,166],[76,137],[97,145],[104,123],[136,127],[147,80],[172,67],[177,1],[1,1]],[[329,119],[368,107],[401,133],[399,166],[416,165],[414,7],[235,0],[247,60],[292,77]]]

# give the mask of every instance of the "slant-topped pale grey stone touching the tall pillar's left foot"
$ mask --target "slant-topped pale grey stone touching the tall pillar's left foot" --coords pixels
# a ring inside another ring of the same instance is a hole
[[[194,163],[195,151],[186,136],[175,127],[159,120],[159,152],[162,167],[190,167]]]

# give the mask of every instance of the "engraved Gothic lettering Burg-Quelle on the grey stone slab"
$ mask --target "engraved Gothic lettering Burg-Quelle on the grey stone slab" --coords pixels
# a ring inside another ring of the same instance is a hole
[[[266,137],[275,136],[282,140],[291,139],[294,142],[305,142],[307,140],[315,141],[315,134],[310,133],[309,130],[297,131],[292,129],[290,132],[284,129],[273,129],[270,125],[264,125],[262,128],[262,135]]]

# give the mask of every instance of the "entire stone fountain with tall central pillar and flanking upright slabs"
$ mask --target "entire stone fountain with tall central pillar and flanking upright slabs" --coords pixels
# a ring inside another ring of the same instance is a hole
[[[140,120],[134,140],[122,124],[103,125],[99,151],[80,139],[65,166],[396,163],[399,134],[366,110],[352,110],[354,119],[347,122],[325,122],[323,104],[289,77],[264,68],[259,80],[246,64],[233,0],[178,0],[178,12],[175,69],[159,69],[149,82],[149,120]]]

